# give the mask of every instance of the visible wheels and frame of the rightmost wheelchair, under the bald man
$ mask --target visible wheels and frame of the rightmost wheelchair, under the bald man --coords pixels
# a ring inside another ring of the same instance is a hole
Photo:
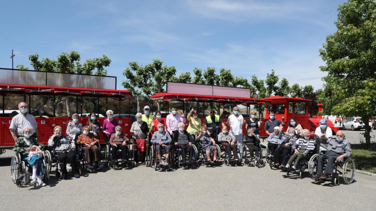
[[[323,154],[323,153],[325,153],[325,152],[321,151],[321,154]],[[311,157],[311,159],[309,159],[309,164],[308,164],[311,179],[313,179],[315,181],[319,181],[318,178],[315,178],[315,175],[317,173],[318,156],[319,156],[318,154],[314,154]],[[324,162],[323,169],[326,168],[326,162],[327,162],[327,160]],[[338,168],[341,168],[341,170],[339,170]],[[354,179],[355,179],[355,162],[351,157],[344,158],[340,162],[334,161],[334,165],[333,165],[333,168],[332,168],[332,176],[329,177],[329,178],[332,179],[334,186],[339,185],[339,183],[340,183],[339,175],[340,174],[342,174],[342,178],[343,178],[343,181],[344,181],[345,184],[350,184],[354,181]],[[329,178],[326,179],[326,180],[329,180]]]

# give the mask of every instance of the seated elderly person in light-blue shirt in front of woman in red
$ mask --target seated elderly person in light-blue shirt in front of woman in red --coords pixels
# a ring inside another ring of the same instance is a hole
[[[155,151],[158,154],[159,166],[168,166],[168,156],[171,150],[169,146],[171,143],[171,136],[164,130],[164,125],[162,123],[158,123],[157,128],[158,131],[154,132],[151,142],[155,144]],[[162,149],[164,149],[166,153],[165,161],[162,160]]]

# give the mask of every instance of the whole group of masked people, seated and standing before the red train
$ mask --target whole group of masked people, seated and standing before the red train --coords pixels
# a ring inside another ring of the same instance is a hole
[[[33,168],[31,183],[38,183],[45,186],[41,180],[41,154],[43,145],[38,141],[37,124],[33,115],[27,114],[27,104],[21,102],[18,105],[20,113],[13,117],[10,130],[15,140],[14,150],[19,152],[22,159]],[[45,116],[44,109],[39,108],[38,116]],[[111,146],[111,154],[114,160],[122,159],[123,162],[128,160],[129,139],[121,132],[122,128],[118,121],[113,118],[114,112],[108,110],[107,118],[103,125],[96,119],[96,114],[91,113],[88,117],[86,126],[79,122],[77,113],[72,115],[72,121],[67,125],[65,135],[62,134],[62,128],[56,126],[53,135],[50,137],[48,146],[55,148],[56,155],[62,161],[62,179],[67,179],[66,163],[70,162],[74,177],[79,178],[79,170],[75,162],[73,150],[76,145],[81,145],[85,152],[88,168],[101,168],[103,164],[100,159],[99,139],[100,132],[106,143]],[[227,117],[228,113],[224,114]],[[246,144],[246,150],[250,152],[252,158],[258,159],[259,155],[259,134],[262,121],[256,118],[256,111],[250,112],[250,118],[246,121],[239,113],[238,107],[233,107],[233,113],[228,115],[227,121],[223,122],[221,116],[216,115],[212,110],[210,115],[206,116],[205,121],[201,122],[198,112],[191,109],[185,118],[183,112],[177,113],[177,108],[172,107],[171,113],[167,115],[166,120],[161,119],[161,112],[155,113],[155,119],[150,113],[150,107],[144,107],[144,114],[136,113],[136,121],[132,123],[130,133],[136,140],[137,147],[141,152],[141,162],[145,162],[146,143],[150,140],[155,144],[155,150],[158,155],[159,165],[168,165],[168,152],[171,148],[178,147],[181,149],[182,163],[193,163],[192,144],[197,141],[205,149],[207,162],[215,163],[218,160],[216,150],[216,140],[228,150],[230,160],[239,162],[237,147]],[[185,124],[188,122],[188,128],[185,130]],[[243,136],[243,124],[246,124],[247,133]],[[290,118],[287,131],[283,131],[285,124],[275,118],[275,114],[270,112],[269,119],[264,125],[265,133],[268,134],[268,148],[271,151],[271,159],[274,160],[274,167],[282,167],[282,171],[296,168],[296,160],[307,154],[308,151],[318,149],[320,143],[327,144],[327,151],[318,158],[317,178],[328,178],[331,174],[328,167],[323,172],[323,162],[325,159],[334,161],[341,160],[343,157],[351,155],[349,142],[345,139],[343,131],[338,131],[335,137],[332,137],[331,128],[327,127],[326,119],[320,120],[320,127],[311,137],[309,130],[303,129],[295,118]],[[227,129],[229,127],[229,130]],[[118,156],[117,150],[121,150]],[[162,149],[166,156],[162,159]],[[231,153],[232,152],[232,153]],[[285,158],[291,154],[287,164]],[[94,155],[94,160],[90,155]],[[186,154],[188,154],[188,161]],[[211,156],[213,155],[213,156]],[[293,164],[294,163],[294,164]],[[331,163],[328,162],[329,169]]]

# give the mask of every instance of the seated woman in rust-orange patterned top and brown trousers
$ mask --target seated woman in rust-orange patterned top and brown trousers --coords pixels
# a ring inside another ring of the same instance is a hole
[[[89,127],[82,128],[82,134],[77,137],[77,144],[82,145],[82,149],[85,152],[85,158],[88,163],[89,169],[94,169],[90,152],[94,154],[94,161],[96,167],[103,168],[103,164],[100,163],[100,151],[98,148],[99,140],[94,138],[93,134],[89,134]]]

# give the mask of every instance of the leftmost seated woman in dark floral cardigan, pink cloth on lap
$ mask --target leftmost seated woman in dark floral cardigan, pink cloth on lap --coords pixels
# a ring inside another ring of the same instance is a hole
[[[23,136],[16,140],[13,150],[21,155],[22,160],[26,160],[33,168],[33,174],[30,184],[46,186],[42,181],[42,147],[43,145],[35,137],[31,137],[32,130],[29,127],[24,128]]]

